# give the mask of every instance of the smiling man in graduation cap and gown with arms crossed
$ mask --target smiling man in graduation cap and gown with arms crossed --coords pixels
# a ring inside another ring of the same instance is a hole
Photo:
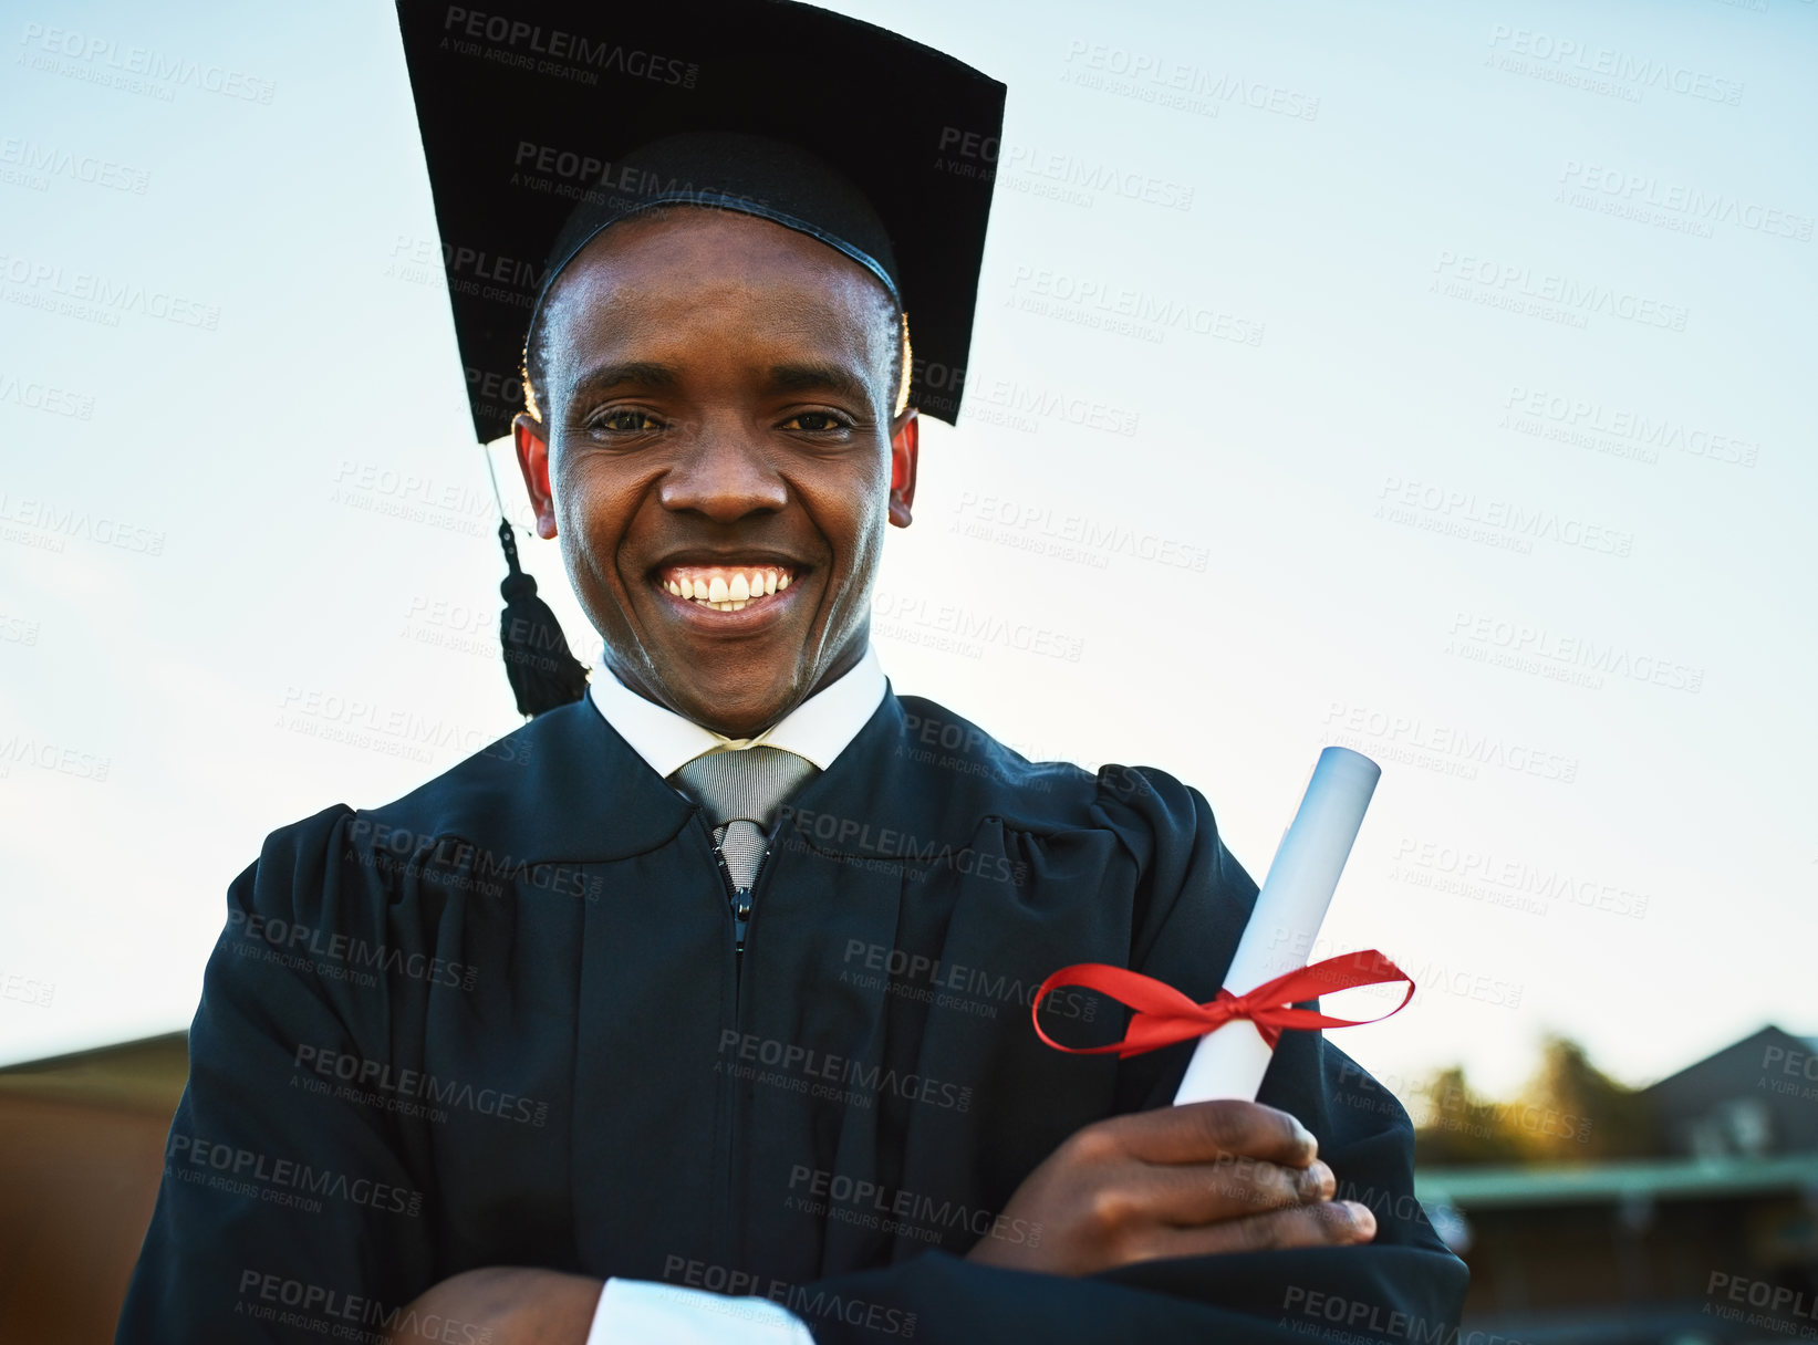
[[[604,667],[235,883],[120,1340],[1443,1338],[1463,1267],[1409,1218],[1407,1120],[1316,1034],[1260,1103],[1174,1109],[1185,1045],[1076,1058],[1027,1020],[1078,961],[1216,992],[1256,889],[1205,800],[1029,763],[869,645],[914,507],[911,338],[964,367],[989,187],[884,204],[865,174],[940,118],[842,151],[793,85],[971,89],[965,125],[1002,85],[800,5],[669,9],[620,65],[674,69],[711,20],[736,60],[704,55],[704,102],[720,78],[740,118],[645,115],[511,338],[536,531]],[[496,120],[464,82],[516,35],[589,49],[578,5],[493,18],[404,9],[451,258],[484,251],[487,147],[442,95]],[[473,367],[513,324],[456,280]],[[1087,996],[1044,1027],[1118,1036]]]

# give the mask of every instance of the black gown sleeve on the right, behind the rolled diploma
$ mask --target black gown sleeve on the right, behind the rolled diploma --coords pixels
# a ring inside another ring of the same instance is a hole
[[[1194,1000],[1216,994],[1256,900],[1205,798],[1165,772],[1105,767],[1096,822],[1140,872],[1131,961]],[[1118,1111],[1169,1105],[1193,1043],[1120,1067]],[[805,1285],[791,1296],[818,1341],[1449,1341],[1469,1270],[1414,1200],[1407,1112],[1318,1032],[1285,1032],[1258,1101],[1300,1118],[1342,1200],[1376,1214],[1364,1247],[1138,1261],[1065,1278],[984,1267],[931,1250]],[[904,1329],[907,1325],[907,1329]]]

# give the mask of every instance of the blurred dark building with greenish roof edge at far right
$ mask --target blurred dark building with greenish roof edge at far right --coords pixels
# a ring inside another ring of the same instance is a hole
[[[1818,1038],[1769,1027],[1640,1096],[1654,1158],[1420,1171],[1471,1265],[1463,1345],[1818,1340]]]

